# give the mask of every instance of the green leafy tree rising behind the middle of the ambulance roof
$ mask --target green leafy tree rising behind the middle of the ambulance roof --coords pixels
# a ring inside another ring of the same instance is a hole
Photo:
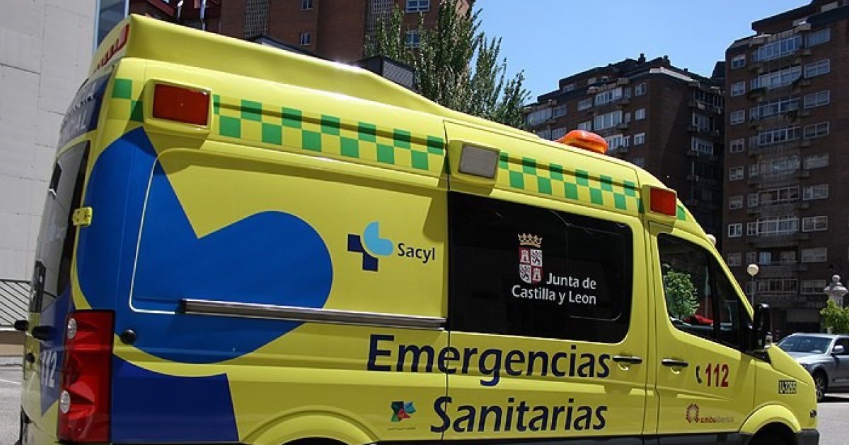
[[[419,93],[463,113],[521,128],[521,108],[530,93],[522,86],[524,71],[507,79],[507,59],[501,58],[501,39],[488,39],[478,9],[461,13],[457,0],[443,0],[436,26],[424,28],[419,20],[419,47],[405,44],[401,9],[377,23],[366,54],[385,55],[416,70]],[[473,62],[474,60],[474,70]]]

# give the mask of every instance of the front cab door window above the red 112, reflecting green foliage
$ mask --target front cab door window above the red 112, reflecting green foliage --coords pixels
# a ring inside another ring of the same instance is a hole
[[[734,286],[705,249],[661,234],[657,237],[669,320],[681,331],[743,346],[741,321],[748,314]]]

